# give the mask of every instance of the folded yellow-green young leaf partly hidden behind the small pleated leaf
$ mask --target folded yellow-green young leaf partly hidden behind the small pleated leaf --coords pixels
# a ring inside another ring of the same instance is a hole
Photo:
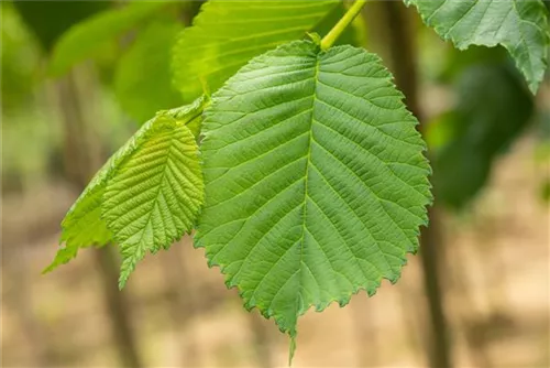
[[[200,113],[205,105],[206,100],[204,98],[198,98],[191,105],[161,111],[155,118],[144,123],[141,129],[106,162],[63,219],[61,242],[65,242],[65,247],[58,250],[53,263],[47,267],[44,272],[52,271],[57,266],[67,263],[76,257],[79,248],[92,245],[103,246],[113,240],[118,240],[118,237],[113,237],[113,234],[111,234],[106,220],[101,216],[108,183],[123,163],[128,164],[128,162],[132,162],[133,153],[138,151],[142,144],[145,144],[152,134],[154,136],[152,131],[157,131],[157,125],[164,127],[164,121],[166,119],[175,119],[174,121],[176,121],[178,126],[187,127],[189,125],[197,127],[197,120],[200,120]]]

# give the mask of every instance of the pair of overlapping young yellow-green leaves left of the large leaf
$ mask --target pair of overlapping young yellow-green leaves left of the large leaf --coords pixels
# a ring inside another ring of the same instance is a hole
[[[204,105],[204,99],[198,99],[177,110],[161,111],[109,159],[62,221],[61,241],[65,247],[45,271],[76,257],[79,248],[114,240],[121,245],[124,258],[123,284],[145,249],[168,248],[172,241],[193,229],[202,184],[200,173],[197,174],[198,149],[187,125],[196,125]],[[135,167],[141,171],[140,175],[128,177]],[[174,177],[179,185],[174,186]],[[129,183],[131,187],[127,187]],[[124,188],[123,195],[118,195],[121,188]],[[133,191],[142,194],[124,195]],[[152,197],[152,193],[157,196]],[[118,210],[128,205],[134,210],[117,217]],[[124,223],[133,220],[133,224]],[[122,228],[121,224],[129,226]],[[138,235],[143,236],[143,241],[154,239],[154,243],[144,246],[136,241]],[[162,242],[164,240],[166,242]]]

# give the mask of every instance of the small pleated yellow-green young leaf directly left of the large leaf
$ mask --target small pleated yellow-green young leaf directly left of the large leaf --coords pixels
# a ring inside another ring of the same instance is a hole
[[[200,119],[201,110],[188,120]],[[167,249],[194,228],[204,184],[191,131],[160,115],[125,158],[103,194],[102,216],[120,245],[122,288],[146,251]]]

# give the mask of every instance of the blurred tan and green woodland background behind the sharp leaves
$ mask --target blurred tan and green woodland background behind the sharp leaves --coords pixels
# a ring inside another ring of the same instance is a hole
[[[188,237],[122,292],[114,246],[41,274],[96,170],[182,104],[170,52],[200,1],[165,2],[116,36],[98,28],[92,54],[52,68],[66,32],[125,6],[1,2],[0,366],[286,367],[287,337]],[[437,199],[399,282],[308,313],[293,367],[550,367],[549,78],[531,96],[503,50],[459,52],[398,0],[371,1],[346,37],[382,55],[422,121]]]

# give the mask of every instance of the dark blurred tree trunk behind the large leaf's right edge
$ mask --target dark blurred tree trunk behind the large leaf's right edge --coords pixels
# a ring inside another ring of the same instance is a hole
[[[398,88],[405,94],[408,109],[418,118],[420,131],[425,132],[424,116],[418,98],[417,55],[415,30],[409,11],[399,0],[385,0],[384,23],[388,28],[388,47]],[[424,271],[424,284],[428,299],[430,343],[429,360],[432,368],[450,368],[449,327],[444,316],[441,293],[440,268],[444,260],[441,251],[441,236],[439,234],[438,208],[428,210],[429,227],[421,229],[420,260]]]

